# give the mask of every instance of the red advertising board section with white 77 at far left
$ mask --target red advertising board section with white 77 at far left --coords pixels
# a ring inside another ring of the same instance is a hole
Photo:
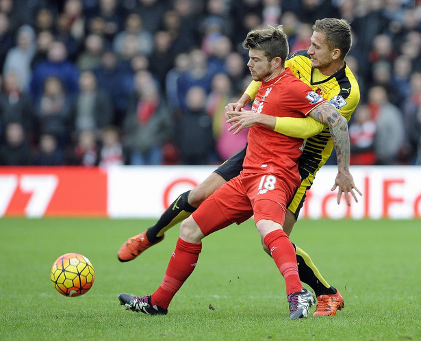
[[[107,216],[100,168],[0,167],[0,216]]]

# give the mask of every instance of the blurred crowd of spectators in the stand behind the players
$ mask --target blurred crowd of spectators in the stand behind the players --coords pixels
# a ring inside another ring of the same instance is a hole
[[[419,0],[0,0],[0,165],[218,164],[246,33],[294,52],[325,17],[353,29],[351,164],[421,164]]]

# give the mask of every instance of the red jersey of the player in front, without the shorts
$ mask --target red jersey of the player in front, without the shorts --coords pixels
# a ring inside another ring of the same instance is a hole
[[[326,101],[289,68],[278,77],[262,82],[253,102],[253,112],[280,117],[304,118]],[[248,146],[242,174],[275,173],[295,190],[301,183],[297,161],[303,139],[279,134],[255,125],[248,131]]]

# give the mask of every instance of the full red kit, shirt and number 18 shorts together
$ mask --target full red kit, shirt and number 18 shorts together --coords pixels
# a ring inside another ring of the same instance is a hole
[[[304,118],[325,100],[286,69],[279,77],[263,82],[253,102],[255,112],[272,116]],[[202,233],[242,223],[268,219],[283,225],[288,201],[300,185],[297,160],[303,139],[291,138],[255,126],[248,131],[243,170],[206,199],[192,217]]]

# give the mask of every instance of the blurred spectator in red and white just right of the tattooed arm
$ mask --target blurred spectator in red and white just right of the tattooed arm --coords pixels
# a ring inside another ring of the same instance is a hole
[[[359,105],[349,124],[350,164],[376,164],[374,138],[376,123],[367,105]]]

